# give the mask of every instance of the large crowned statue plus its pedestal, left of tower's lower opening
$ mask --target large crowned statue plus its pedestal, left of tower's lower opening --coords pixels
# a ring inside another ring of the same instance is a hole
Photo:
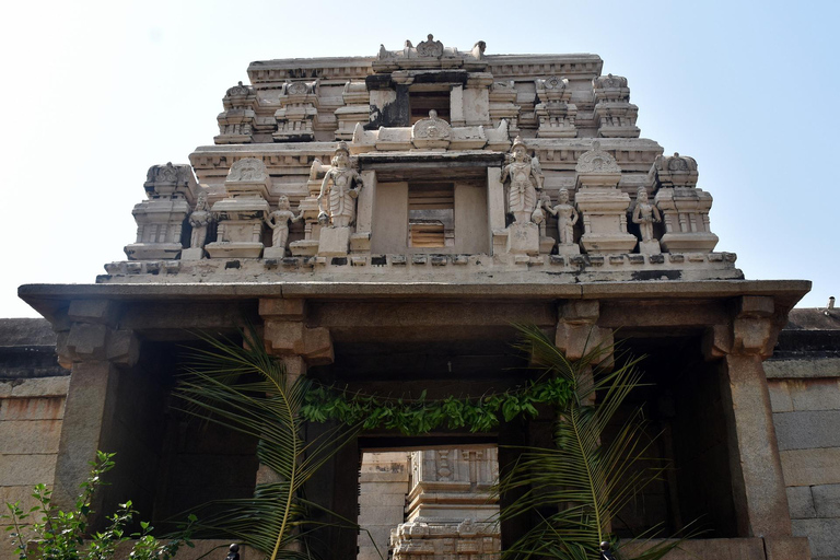
[[[362,176],[350,165],[347,143],[339,142],[317,199],[318,223],[322,226],[319,255],[347,254],[355,223],[355,199],[363,186]]]

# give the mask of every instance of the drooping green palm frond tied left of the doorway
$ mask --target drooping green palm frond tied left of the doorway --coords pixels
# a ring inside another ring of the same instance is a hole
[[[246,542],[271,560],[310,558],[306,536],[318,526],[310,513],[318,506],[305,500],[303,487],[353,441],[359,425],[338,424],[306,440],[301,409],[311,390],[307,378],[288,376],[254,329],[245,334],[244,345],[202,339],[208,348],[191,351],[176,395],[188,413],[258,439],[257,458],[276,481],[258,485],[253,498],[207,504],[221,505],[223,512],[202,516],[197,528]]]

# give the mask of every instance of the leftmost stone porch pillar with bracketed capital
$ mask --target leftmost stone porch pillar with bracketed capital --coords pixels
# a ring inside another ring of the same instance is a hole
[[[139,343],[130,330],[114,327],[117,313],[112,302],[73,301],[68,328],[58,332],[59,363],[72,370],[52,491],[54,503],[62,509],[73,506],[96,451],[113,452],[119,445],[120,427],[114,421],[119,370],[137,363]],[[102,493],[94,498],[98,512]]]

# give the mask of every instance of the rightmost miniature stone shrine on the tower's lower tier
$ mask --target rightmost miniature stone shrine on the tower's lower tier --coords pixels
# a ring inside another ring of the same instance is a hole
[[[718,236],[709,225],[712,196],[697,188],[697,162],[675,153],[661,155],[649,175],[660,187],[654,203],[663,213],[662,247],[669,253],[711,253]]]

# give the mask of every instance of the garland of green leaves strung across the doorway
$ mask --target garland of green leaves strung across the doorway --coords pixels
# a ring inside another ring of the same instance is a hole
[[[544,376],[504,393],[440,400],[427,400],[425,392],[417,399],[381,398],[313,386],[305,395],[301,415],[313,422],[338,420],[361,423],[366,430],[396,429],[406,435],[428,433],[441,425],[488,432],[499,425],[500,415],[506,422],[520,415],[536,418],[537,405],[562,407],[571,396],[571,385],[557,376]]]

